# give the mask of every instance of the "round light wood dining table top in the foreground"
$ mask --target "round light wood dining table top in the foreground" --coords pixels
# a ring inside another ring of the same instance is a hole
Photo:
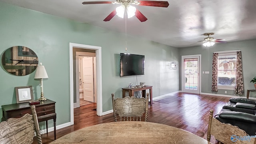
[[[186,130],[153,122],[109,122],[76,130],[50,144],[212,144]]]

